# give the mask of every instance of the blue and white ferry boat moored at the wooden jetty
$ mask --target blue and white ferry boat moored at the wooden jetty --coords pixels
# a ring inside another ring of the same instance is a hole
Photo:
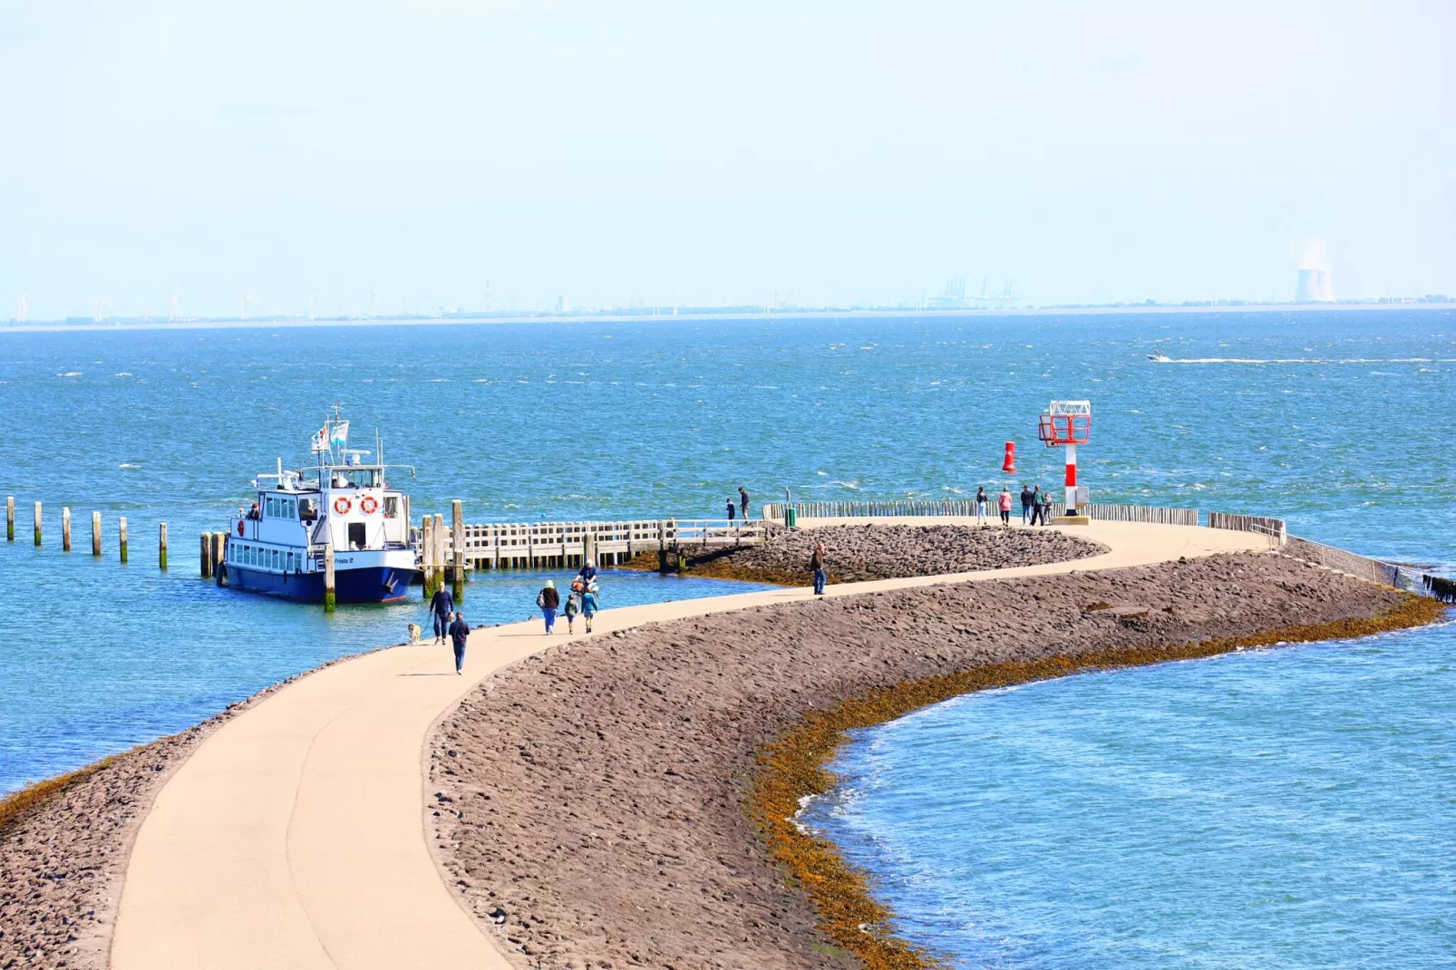
[[[338,603],[389,603],[409,594],[415,549],[409,495],[384,479],[383,444],[348,447],[349,422],[338,408],[314,433],[314,465],[253,479],[258,501],[237,510],[227,532],[218,583],[252,593],[323,602],[325,551],[333,548]]]

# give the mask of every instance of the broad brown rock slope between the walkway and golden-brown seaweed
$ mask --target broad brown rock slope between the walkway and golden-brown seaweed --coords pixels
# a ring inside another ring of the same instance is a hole
[[[818,928],[745,811],[760,750],[805,712],[989,664],[1146,654],[1404,603],[1245,553],[575,641],[488,679],[441,724],[430,836],[451,888],[521,967],[860,966]]]

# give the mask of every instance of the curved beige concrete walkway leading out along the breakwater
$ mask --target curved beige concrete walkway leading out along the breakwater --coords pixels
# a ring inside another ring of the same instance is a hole
[[[1192,526],[1093,523],[1069,532],[1111,552],[831,585],[828,593],[1268,548],[1262,536]],[[807,588],[783,588],[606,610],[594,635],[810,597]],[[435,868],[425,836],[432,801],[425,791],[428,736],[480,680],[562,642],[565,635],[543,636],[539,622],[478,631],[463,677],[453,673],[448,647],[384,650],[309,674],[226,722],[167,781],[143,820],[116,915],[112,967],[511,967]]]

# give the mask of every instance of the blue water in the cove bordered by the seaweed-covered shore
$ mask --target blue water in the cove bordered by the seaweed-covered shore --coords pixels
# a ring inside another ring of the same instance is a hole
[[[810,819],[957,966],[1456,966],[1452,634],[958,698]]]

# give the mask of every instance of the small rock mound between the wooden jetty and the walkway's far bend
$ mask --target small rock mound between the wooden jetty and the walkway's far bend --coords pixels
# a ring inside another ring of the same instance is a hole
[[[1107,552],[1107,548],[1056,529],[1000,526],[824,526],[772,529],[761,546],[687,556],[687,574],[716,580],[748,580],[808,585],[810,556],[823,542],[830,583],[948,575],[977,569],[1066,562]],[[632,568],[657,569],[657,552],[632,561]]]

